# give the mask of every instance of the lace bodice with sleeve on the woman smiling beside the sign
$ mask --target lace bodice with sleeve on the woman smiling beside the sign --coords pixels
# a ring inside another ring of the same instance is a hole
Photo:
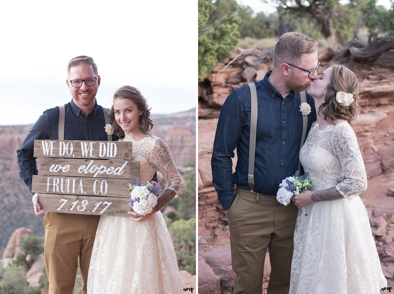
[[[145,137],[139,141],[132,136],[125,136],[125,141],[133,142],[132,160],[139,161],[139,179],[151,181],[156,170],[162,173],[167,186],[177,194],[182,187],[182,179],[175,166],[167,144],[159,137]],[[164,189],[163,189],[164,190]]]

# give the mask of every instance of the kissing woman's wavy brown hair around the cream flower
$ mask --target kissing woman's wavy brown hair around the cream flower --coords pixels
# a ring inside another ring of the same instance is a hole
[[[337,92],[353,94],[354,101],[349,106],[339,103],[336,101]],[[333,65],[330,82],[325,92],[325,101],[320,105],[318,114],[323,114],[324,120],[331,123],[336,119],[344,119],[351,123],[359,114],[360,106],[358,100],[359,82],[356,74],[344,65]]]

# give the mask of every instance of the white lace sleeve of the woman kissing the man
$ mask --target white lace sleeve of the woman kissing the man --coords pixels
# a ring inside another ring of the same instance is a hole
[[[334,129],[331,142],[345,177],[335,188],[344,198],[351,200],[367,190],[367,175],[356,134],[348,123],[340,123]]]

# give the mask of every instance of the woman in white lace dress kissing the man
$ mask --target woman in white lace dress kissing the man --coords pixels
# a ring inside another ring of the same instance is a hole
[[[299,158],[314,188],[292,197],[306,211],[297,216],[290,293],[379,294],[387,281],[359,197],[367,177],[349,125],[359,110],[357,77],[334,65],[307,92],[318,115]],[[345,180],[336,183],[340,178]]]

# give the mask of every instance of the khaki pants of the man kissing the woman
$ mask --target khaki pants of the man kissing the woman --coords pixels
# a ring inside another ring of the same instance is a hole
[[[227,219],[230,229],[234,294],[261,294],[267,248],[271,262],[268,294],[288,294],[297,207],[276,196],[252,195],[239,187]]]

